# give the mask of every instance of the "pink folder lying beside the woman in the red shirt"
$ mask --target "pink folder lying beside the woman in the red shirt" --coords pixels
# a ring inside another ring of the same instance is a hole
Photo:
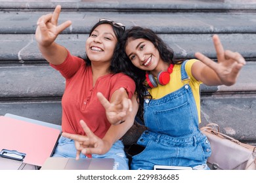
[[[53,153],[59,135],[59,129],[0,116],[0,151],[26,154],[23,163],[41,167]]]

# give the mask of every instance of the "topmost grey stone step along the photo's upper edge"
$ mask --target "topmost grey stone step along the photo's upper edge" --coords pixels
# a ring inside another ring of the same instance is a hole
[[[255,11],[255,1],[247,0],[216,0],[216,1],[203,1],[203,0],[59,0],[59,1],[36,1],[36,0],[0,0],[0,8],[7,10],[49,10],[56,5],[62,5],[65,10],[110,10],[110,11],[167,11],[167,12],[187,12],[187,11],[205,11],[205,12],[220,12],[220,11]]]

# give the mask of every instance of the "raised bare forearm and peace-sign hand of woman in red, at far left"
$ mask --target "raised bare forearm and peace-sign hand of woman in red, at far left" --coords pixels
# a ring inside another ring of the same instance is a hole
[[[63,46],[57,44],[55,39],[58,34],[69,27],[72,22],[66,21],[58,25],[58,16],[60,15],[61,7],[56,6],[53,14],[46,14],[37,20],[37,29],[35,31],[35,39],[38,48],[49,63],[59,65],[66,59],[68,51]]]

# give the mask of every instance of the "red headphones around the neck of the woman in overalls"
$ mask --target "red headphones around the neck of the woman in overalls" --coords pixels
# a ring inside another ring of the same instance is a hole
[[[170,81],[170,75],[173,73],[173,64],[171,64],[167,71],[161,71],[158,73],[157,80],[154,78],[153,75],[146,73],[146,82],[148,82],[148,85],[151,88],[156,88],[158,86],[158,83],[161,85],[168,84]]]

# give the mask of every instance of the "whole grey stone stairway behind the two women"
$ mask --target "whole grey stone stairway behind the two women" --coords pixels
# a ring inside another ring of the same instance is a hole
[[[173,48],[177,58],[202,52],[216,60],[211,37],[247,61],[234,86],[202,86],[202,124],[256,143],[256,1],[2,1],[0,0],[0,115],[16,114],[61,124],[64,78],[49,67],[35,42],[37,19],[62,5],[59,23],[72,26],[57,42],[85,55],[89,29],[99,18],[128,27],[150,27]]]

